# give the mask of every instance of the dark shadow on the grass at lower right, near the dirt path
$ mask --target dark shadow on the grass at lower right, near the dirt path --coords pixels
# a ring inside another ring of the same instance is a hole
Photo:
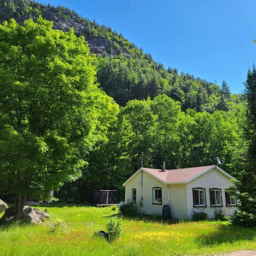
[[[217,231],[210,234],[199,235],[196,243],[199,246],[213,246],[222,243],[235,243],[238,241],[253,241],[256,238],[256,228],[246,228],[236,225],[219,225]]]

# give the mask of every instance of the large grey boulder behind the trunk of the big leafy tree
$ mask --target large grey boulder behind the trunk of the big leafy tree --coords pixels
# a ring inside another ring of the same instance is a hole
[[[7,208],[3,217],[1,217],[0,219],[0,225],[8,224],[9,222],[11,222],[14,219],[14,215],[15,207],[12,206]],[[49,218],[49,215],[42,210],[25,205],[23,208],[23,215],[21,220],[27,223],[37,223],[47,218]]]

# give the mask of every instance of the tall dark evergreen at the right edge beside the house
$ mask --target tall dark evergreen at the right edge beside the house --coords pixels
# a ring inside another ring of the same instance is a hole
[[[254,65],[252,70],[248,70],[244,85],[248,110],[243,131],[247,148],[238,158],[236,167],[239,171],[234,173],[237,181],[228,192],[240,201],[237,205],[239,211],[232,222],[248,226],[256,224],[256,67]]]

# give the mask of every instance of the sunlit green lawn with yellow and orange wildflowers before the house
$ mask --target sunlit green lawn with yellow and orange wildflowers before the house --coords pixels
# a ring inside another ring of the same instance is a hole
[[[0,227],[0,255],[211,255],[256,250],[256,229],[228,222],[167,225],[124,219],[121,239],[108,243],[93,234],[105,230],[106,222],[117,214],[111,207],[54,204],[48,214],[50,219],[42,224]],[[53,232],[57,218],[65,225]]]

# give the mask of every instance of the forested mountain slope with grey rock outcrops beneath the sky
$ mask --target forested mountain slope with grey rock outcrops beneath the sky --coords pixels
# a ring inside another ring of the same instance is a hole
[[[228,111],[232,105],[243,101],[239,94],[226,92],[205,79],[181,72],[175,68],[165,69],[124,36],[110,27],[99,25],[62,6],[44,5],[30,0],[0,0],[0,22],[16,19],[19,24],[37,16],[53,21],[54,29],[69,31],[73,27],[77,36],[84,36],[91,54],[95,56],[100,86],[120,106],[132,99],[154,98],[166,94],[181,104],[183,111]],[[171,51],[172,49],[170,49]]]

